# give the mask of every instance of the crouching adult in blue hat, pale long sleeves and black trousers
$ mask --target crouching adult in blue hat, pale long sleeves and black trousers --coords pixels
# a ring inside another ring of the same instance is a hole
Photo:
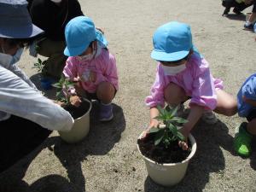
[[[53,130],[69,131],[73,118],[44,97],[15,62],[43,31],[32,25],[26,0],[0,0],[0,172],[14,165]]]

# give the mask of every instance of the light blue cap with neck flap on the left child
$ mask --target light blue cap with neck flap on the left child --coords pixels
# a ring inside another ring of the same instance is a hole
[[[93,21],[86,16],[75,17],[67,23],[65,38],[67,47],[64,54],[67,56],[82,54],[94,40],[97,40],[103,47],[108,45],[102,32],[96,30]]]

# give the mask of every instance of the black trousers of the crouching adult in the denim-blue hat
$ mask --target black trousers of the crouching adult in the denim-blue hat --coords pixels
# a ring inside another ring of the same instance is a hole
[[[15,115],[0,121],[0,129],[0,172],[32,152],[52,132]]]

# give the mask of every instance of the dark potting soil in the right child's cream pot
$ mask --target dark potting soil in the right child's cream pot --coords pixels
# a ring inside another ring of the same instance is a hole
[[[160,164],[181,162],[185,160],[191,152],[190,143],[188,150],[180,148],[177,141],[171,143],[168,148],[162,143],[155,146],[154,134],[148,134],[147,137],[138,139],[137,144],[144,156]]]

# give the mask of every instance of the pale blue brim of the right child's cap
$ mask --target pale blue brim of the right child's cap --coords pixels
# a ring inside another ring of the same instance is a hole
[[[157,61],[177,61],[189,55],[189,50],[178,51],[175,53],[166,53],[162,51],[153,50],[151,58]]]

